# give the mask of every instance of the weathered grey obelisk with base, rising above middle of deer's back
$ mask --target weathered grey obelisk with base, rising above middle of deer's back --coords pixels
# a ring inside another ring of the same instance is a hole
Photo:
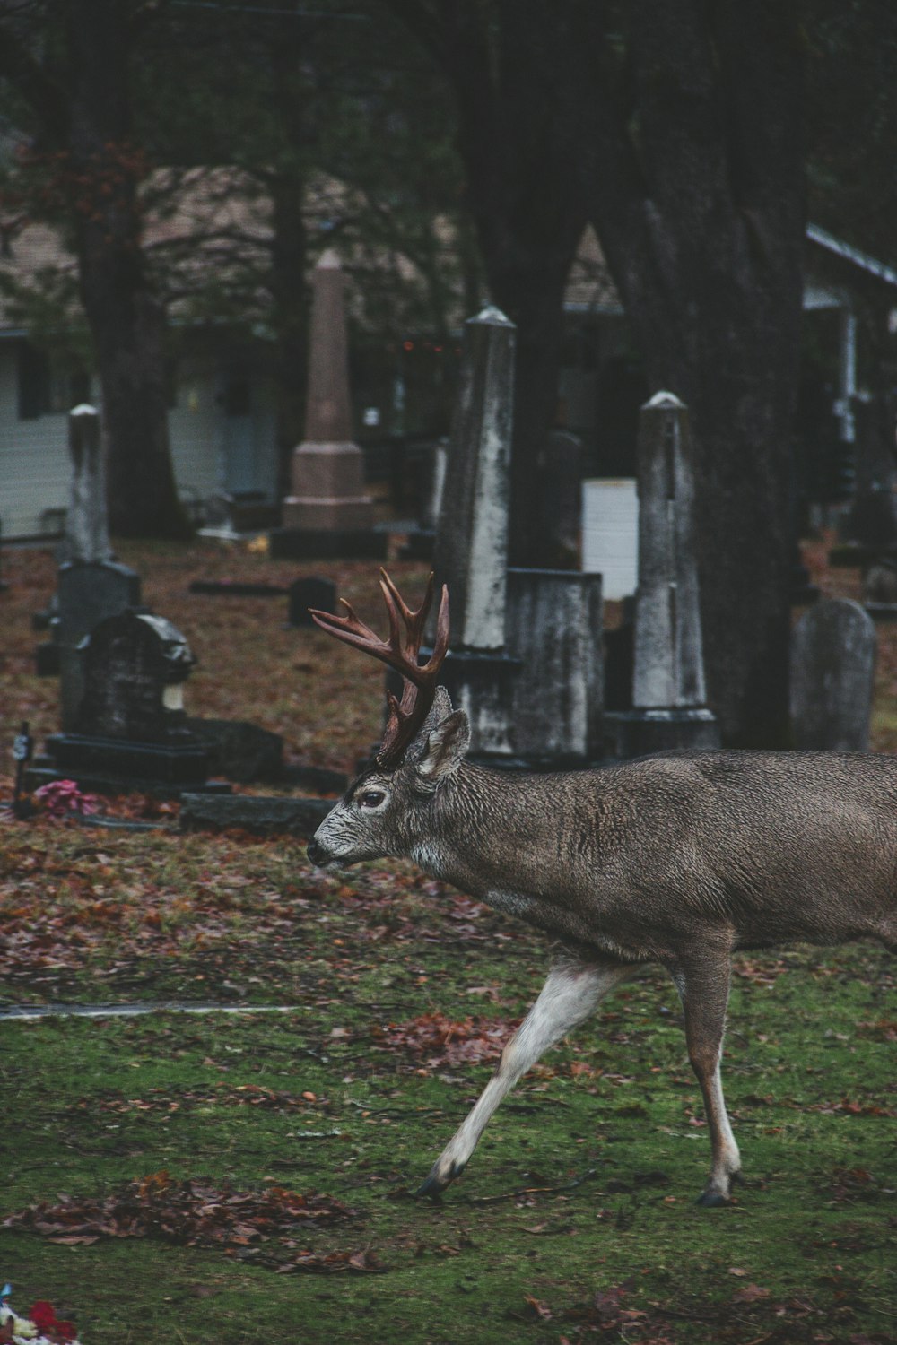
[[[639,420],[632,706],[617,718],[620,756],[719,746],[703,677],[689,413],[671,393]]]

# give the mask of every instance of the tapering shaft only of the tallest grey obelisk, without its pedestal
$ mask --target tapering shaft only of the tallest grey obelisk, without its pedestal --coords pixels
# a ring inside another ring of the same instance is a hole
[[[484,652],[504,647],[515,335],[498,308],[464,324],[436,533],[436,574],[452,594],[452,644]]]

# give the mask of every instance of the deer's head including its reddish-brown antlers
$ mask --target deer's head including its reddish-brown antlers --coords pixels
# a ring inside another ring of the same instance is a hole
[[[381,590],[389,616],[382,640],[358,619],[346,599],[346,615],[317,612],[323,631],[379,659],[402,675],[401,701],[386,693],[383,740],[367,767],[332,808],[308,846],[308,858],[321,868],[344,868],[359,859],[407,855],[425,843],[429,806],[440,784],[460,765],[471,730],[463,710],[453,710],[438,674],[448,651],[448,589],[442,585],[436,640],[426,663],[418,663],[424,623],[433,604],[433,576],[420,608],[413,612],[385,570]]]

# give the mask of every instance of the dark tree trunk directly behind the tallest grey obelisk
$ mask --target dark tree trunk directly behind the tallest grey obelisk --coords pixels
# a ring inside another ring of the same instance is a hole
[[[499,0],[389,0],[430,48],[456,94],[467,203],[492,301],[516,325],[510,558],[551,565],[541,457],[554,424],[563,289],[586,226],[573,143],[550,117],[550,7]],[[499,23],[494,20],[500,19]]]

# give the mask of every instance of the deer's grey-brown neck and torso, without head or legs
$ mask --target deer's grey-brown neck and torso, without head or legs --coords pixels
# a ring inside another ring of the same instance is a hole
[[[463,764],[382,843],[631,962],[666,963],[695,937],[730,952],[842,943],[885,932],[897,901],[897,760],[671,753],[565,775]]]

